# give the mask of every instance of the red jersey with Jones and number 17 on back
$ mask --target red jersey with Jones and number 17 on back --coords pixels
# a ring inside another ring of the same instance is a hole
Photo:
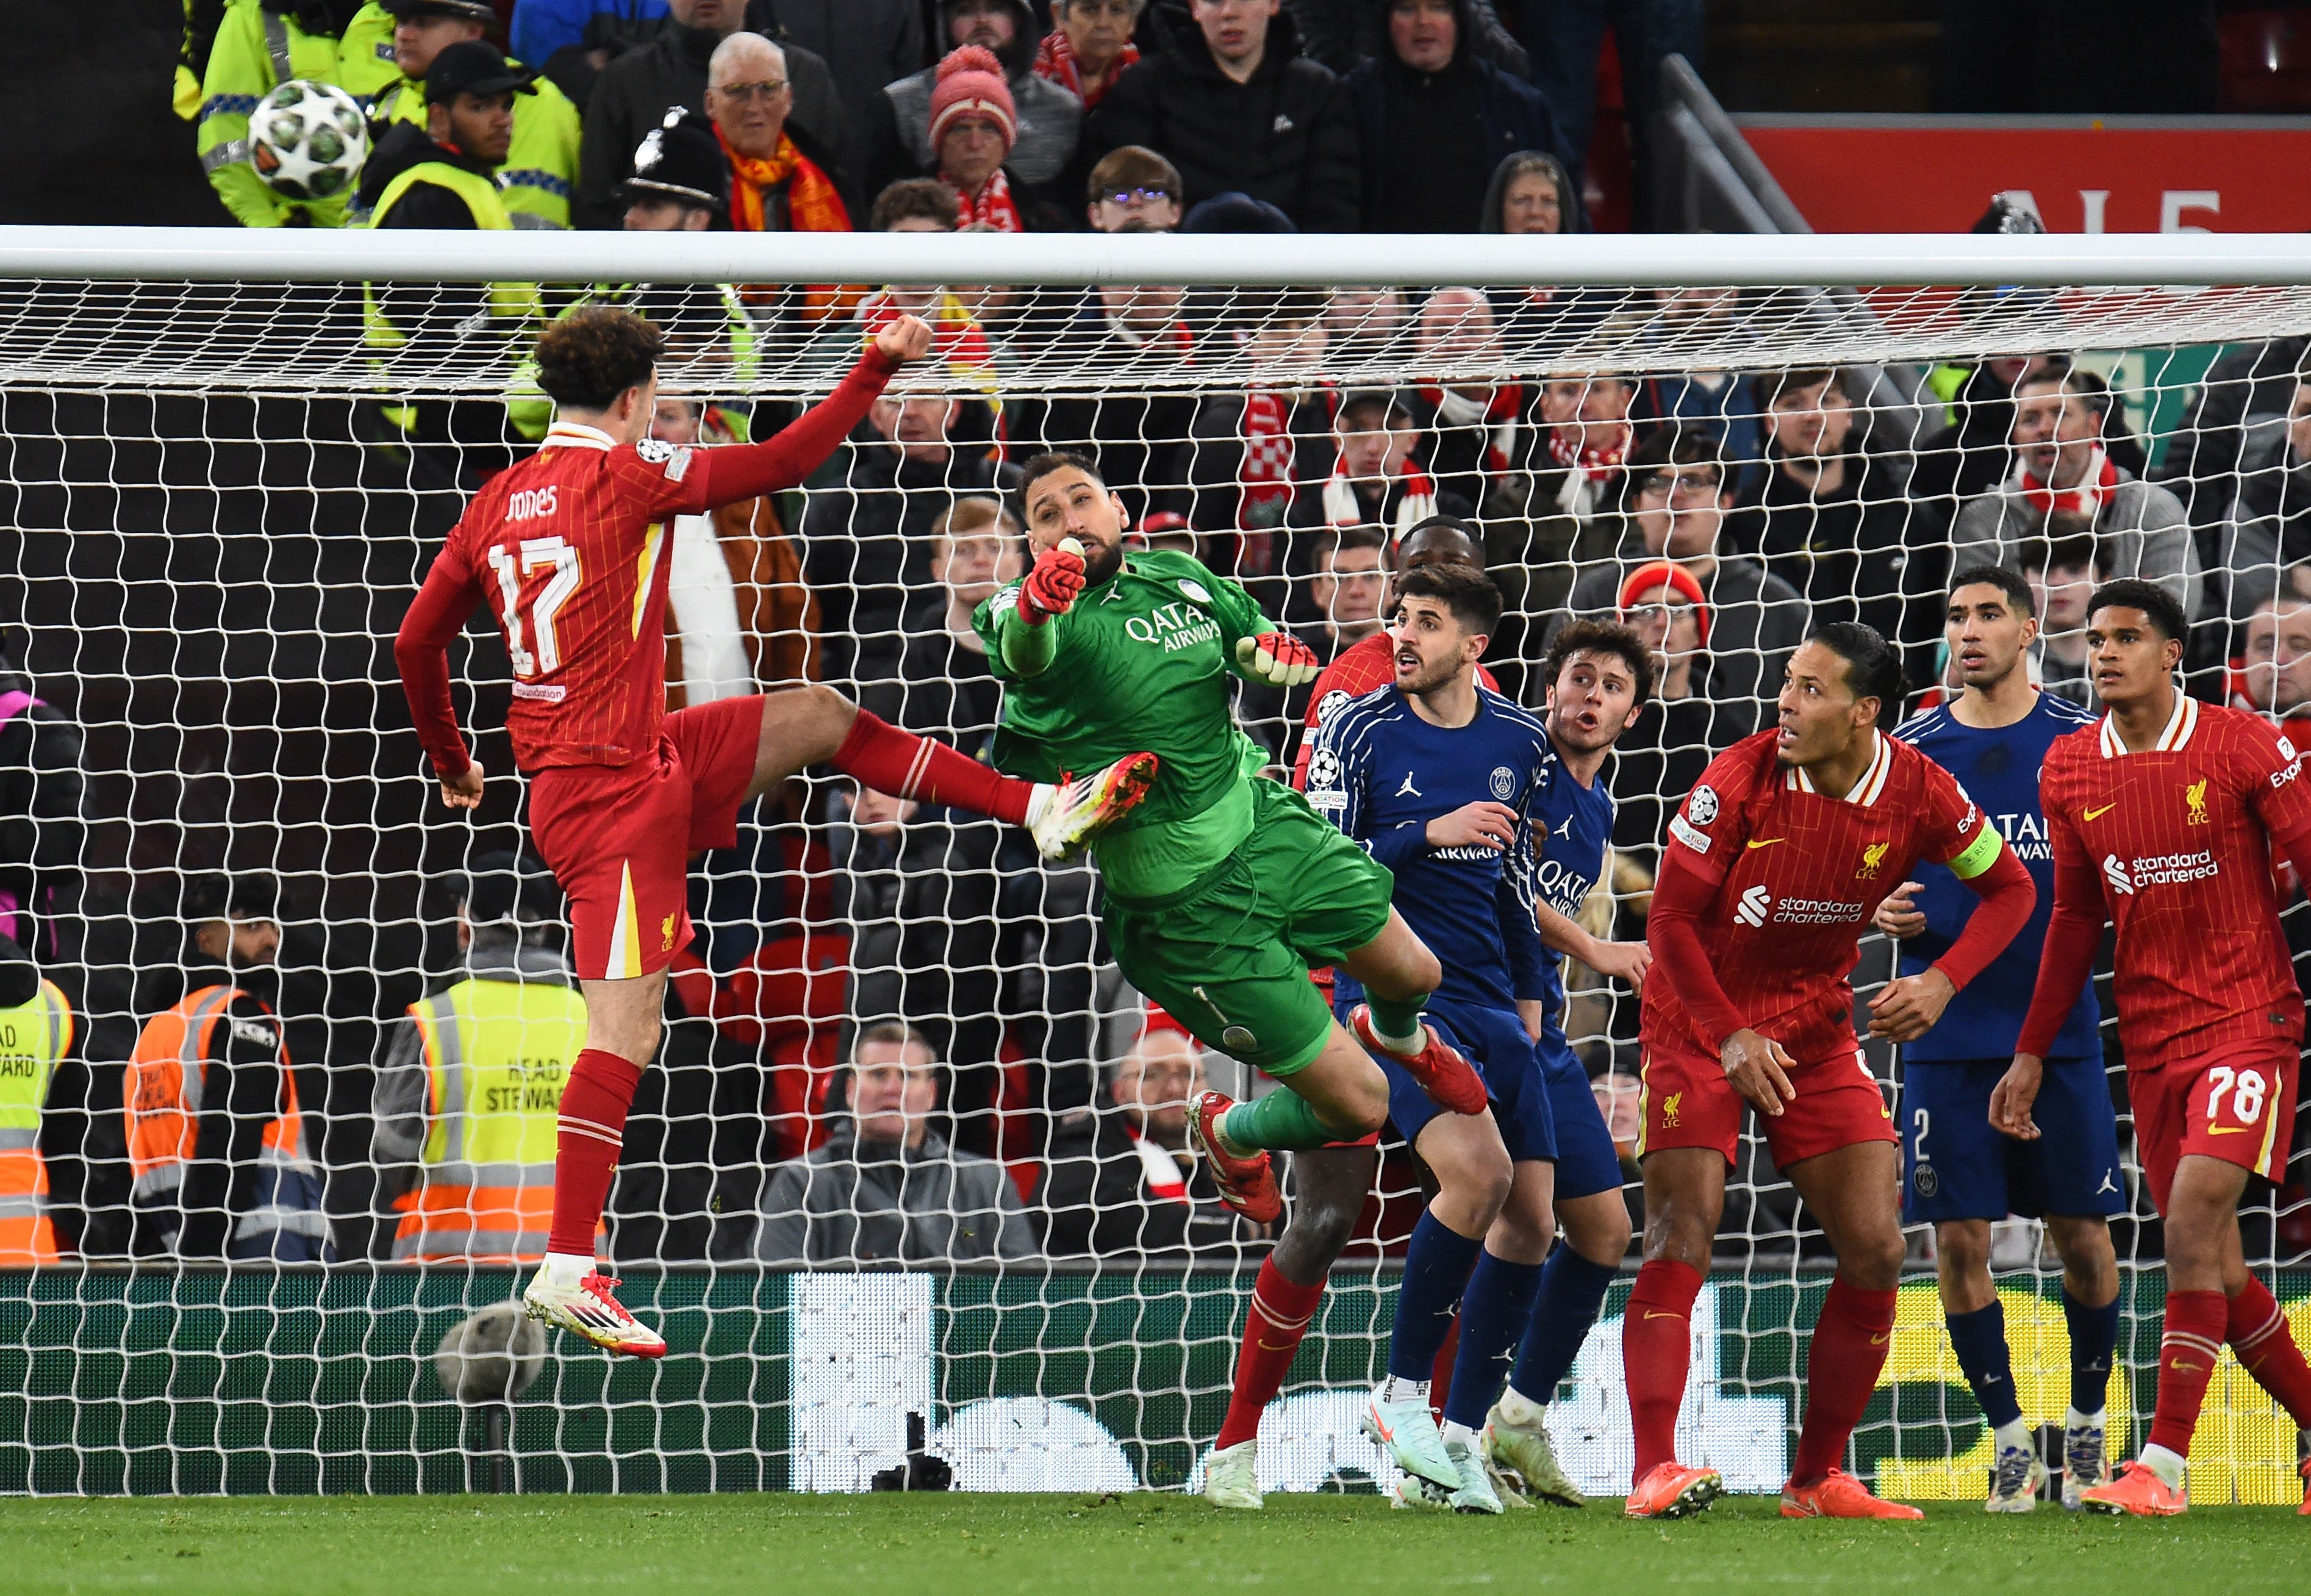
[[[488,601],[513,661],[506,732],[525,771],[631,765],[666,721],[668,520],[705,510],[696,453],[555,423],[474,494],[434,575]],[[428,577],[428,584],[434,577]]]

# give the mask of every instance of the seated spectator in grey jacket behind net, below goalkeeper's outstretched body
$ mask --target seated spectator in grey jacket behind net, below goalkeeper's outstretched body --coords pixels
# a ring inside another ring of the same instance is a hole
[[[1019,1189],[931,1129],[945,1065],[920,1032],[860,1030],[850,1113],[827,1146],[772,1171],[753,1256],[774,1268],[1035,1256]]]

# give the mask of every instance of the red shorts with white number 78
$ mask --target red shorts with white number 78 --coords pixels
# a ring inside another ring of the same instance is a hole
[[[2135,1150],[2158,1213],[2175,1189],[2175,1164],[2189,1153],[2279,1178],[2295,1136],[2299,1069],[2293,1042],[2253,1039],[2126,1072]]]

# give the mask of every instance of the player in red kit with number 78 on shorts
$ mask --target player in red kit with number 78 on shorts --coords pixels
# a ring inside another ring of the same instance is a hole
[[[2279,1173],[2295,1127],[2304,998],[2272,855],[2311,868],[2311,776],[2262,718],[2184,698],[2182,651],[2184,612],[2165,589],[2105,582],[2087,601],[2087,670],[2110,714],[2054,739],[2038,776],[2054,915],[1990,1097],[1992,1125],[2038,1134],[2041,1060],[2115,924],[2126,1095],[2165,1220],[2165,1335],[2149,1444],[2080,1506],[2156,1517],[2191,1506],[2184,1460],[2223,1342],[2311,1427],[2311,1370],[2239,1245],[2246,1180]]]

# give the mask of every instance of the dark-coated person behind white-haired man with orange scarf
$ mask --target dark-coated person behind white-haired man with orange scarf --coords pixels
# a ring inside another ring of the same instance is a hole
[[[585,106],[585,146],[578,152],[578,201],[571,224],[615,231],[624,206],[619,187],[633,171],[642,136],[666,120],[668,106],[707,109],[707,72],[721,42],[744,28],[742,0],[668,0],[666,25],[649,44],[601,69]],[[848,143],[834,74],[811,51],[786,44],[788,127],[809,129],[823,169],[848,187]],[[744,74],[749,81],[760,81]],[[844,201],[848,206],[848,199]]]

